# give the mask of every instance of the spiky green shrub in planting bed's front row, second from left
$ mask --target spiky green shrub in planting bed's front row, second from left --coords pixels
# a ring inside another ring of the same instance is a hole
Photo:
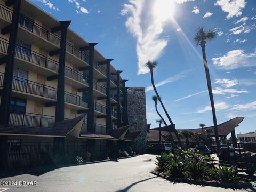
[[[165,164],[166,174],[172,177],[183,178],[185,172],[185,164],[180,161],[175,161],[171,159]]]

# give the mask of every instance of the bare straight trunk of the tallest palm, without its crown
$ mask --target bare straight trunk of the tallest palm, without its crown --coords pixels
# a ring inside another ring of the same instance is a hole
[[[220,140],[219,140],[219,132],[218,132],[218,125],[217,125],[217,118],[216,118],[216,113],[215,113],[213,94],[212,94],[212,84],[211,84],[208,63],[206,60],[205,45],[201,45],[201,47],[202,47],[202,53],[203,53],[204,69],[205,69],[207,87],[208,87],[208,92],[209,92],[209,97],[210,97],[211,107],[212,107],[212,117],[213,117],[213,125],[214,125],[215,140],[216,140],[217,155],[218,155],[220,153]]]

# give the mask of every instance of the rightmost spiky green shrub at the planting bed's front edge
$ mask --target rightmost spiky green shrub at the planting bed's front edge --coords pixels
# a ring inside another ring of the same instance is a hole
[[[231,167],[220,167],[218,169],[218,180],[225,183],[236,183],[241,179],[237,176],[237,169],[235,166]]]

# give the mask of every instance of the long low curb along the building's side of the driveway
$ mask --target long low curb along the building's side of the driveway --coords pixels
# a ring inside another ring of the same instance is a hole
[[[132,156],[128,156],[128,157],[119,157],[119,158],[115,158],[115,159],[105,159],[105,160],[93,161],[93,162],[85,162],[85,163],[80,163],[80,164],[75,164],[75,163],[73,163],[73,164],[60,164],[58,166],[48,166],[48,167],[42,167],[40,169],[34,169],[34,170],[0,173],[0,178],[12,177],[12,175],[20,175],[20,174],[33,173],[33,172],[38,172],[38,171],[49,171],[49,170],[54,170],[54,169],[59,169],[59,168],[64,168],[64,167],[87,165],[87,164],[94,164],[94,163],[102,163],[102,162],[108,162],[108,161],[117,161],[119,159],[125,159],[125,158],[137,157],[137,156],[139,156],[139,155],[132,155]]]

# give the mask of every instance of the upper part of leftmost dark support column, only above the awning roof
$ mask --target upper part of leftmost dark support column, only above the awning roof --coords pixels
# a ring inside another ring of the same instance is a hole
[[[5,32],[9,32],[9,44],[8,44],[8,54],[6,57],[2,58],[5,63],[4,71],[4,82],[3,82],[3,92],[0,103],[0,124],[3,126],[9,126],[10,118],[10,102],[12,93],[12,78],[13,78],[13,68],[14,68],[14,57],[15,57],[15,46],[17,42],[17,34],[19,27],[19,14],[21,0],[13,1],[13,13],[12,13],[12,24],[6,27]],[[6,1],[6,5],[11,6],[11,1]],[[2,33],[2,30],[1,30]],[[5,33],[5,34],[7,34]]]

